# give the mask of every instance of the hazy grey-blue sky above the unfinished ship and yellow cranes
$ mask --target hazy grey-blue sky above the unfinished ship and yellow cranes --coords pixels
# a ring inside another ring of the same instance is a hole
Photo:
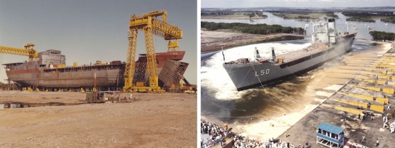
[[[185,50],[183,62],[189,63],[184,77],[197,84],[197,1],[6,1],[0,0],[0,46],[23,48],[35,44],[38,52],[55,49],[73,62],[96,60],[125,62],[128,50],[130,15],[166,10],[167,22],[183,30],[179,49]],[[154,38],[155,51],[166,52],[168,42]],[[146,53],[143,32],[137,38],[137,54]],[[28,57],[0,54],[0,64],[24,62]],[[0,82],[6,79],[3,66]]]

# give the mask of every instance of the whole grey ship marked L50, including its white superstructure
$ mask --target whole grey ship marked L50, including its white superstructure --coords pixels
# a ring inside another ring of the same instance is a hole
[[[269,58],[262,58],[255,50],[255,59],[241,58],[225,62],[227,71],[237,91],[281,82],[306,73],[331,59],[351,50],[356,33],[337,32],[335,19],[313,24],[312,43],[307,48],[276,56],[274,48]]]

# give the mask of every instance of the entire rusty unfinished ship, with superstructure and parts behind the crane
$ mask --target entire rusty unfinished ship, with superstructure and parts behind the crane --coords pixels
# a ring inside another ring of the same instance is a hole
[[[183,59],[185,51],[168,51],[157,53],[158,73],[168,60]],[[120,88],[124,85],[123,73],[125,64],[120,61],[88,64],[82,66],[65,66],[65,57],[58,50],[47,50],[39,54],[40,60],[35,62],[19,62],[3,64],[8,80],[20,84],[21,87],[48,88],[89,88],[96,84],[99,88]],[[183,63],[183,62],[182,62]],[[179,64],[182,65],[182,64]],[[186,64],[187,65],[187,64]],[[182,71],[184,74],[186,66]],[[96,79],[95,79],[96,75]],[[146,56],[141,55],[137,61],[134,80],[147,80]],[[163,81],[163,80],[162,80]],[[166,80],[166,84],[169,80]]]

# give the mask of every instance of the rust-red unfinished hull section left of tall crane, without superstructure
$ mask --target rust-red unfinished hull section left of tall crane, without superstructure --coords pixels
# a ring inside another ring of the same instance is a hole
[[[123,83],[124,64],[77,66],[67,68],[37,68],[37,62],[4,64],[8,80],[37,88],[116,87]],[[17,70],[16,68],[24,68]],[[27,69],[26,69],[27,68]],[[96,75],[96,81],[95,81]]]

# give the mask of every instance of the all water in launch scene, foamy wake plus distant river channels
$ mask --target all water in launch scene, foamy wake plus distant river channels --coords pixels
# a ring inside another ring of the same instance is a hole
[[[265,13],[268,19],[258,19],[256,21],[249,21],[248,19],[202,19],[202,21],[213,21],[213,22],[241,22],[249,24],[279,24],[281,26],[291,27],[304,27],[305,24],[311,26],[312,21],[296,21],[292,19],[282,19],[276,17],[270,13]],[[337,14],[340,19],[336,21],[337,30],[346,31],[344,22],[346,17],[341,14]],[[365,22],[359,23],[350,21],[349,25],[354,24],[359,29],[356,30],[358,35],[356,38],[371,39],[367,26],[371,26],[370,23]],[[372,30],[395,32],[395,25],[388,24],[381,21],[374,23],[375,28]],[[342,28],[343,26],[343,28]],[[311,34],[312,30],[309,28],[307,34]],[[352,33],[352,28],[349,27],[349,31]],[[293,50],[299,50],[306,46],[309,46],[310,38],[293,40],[293,41],[275,41],[263,44],[252,44],[248,46],[240,46],[236,48],[229,48],[224,51],[225,60],[231,61],[241,57],[253,58],[254,48],[258,48],[261,56],[267,57],[271,47],[276,48],[276,53],[281,55],[288,53]],[[352,55],[364,50],[376,48],[371,46],[367,41],[356,40],[352,46],[352,52],[347,53],[344,56]],[[342,56],[342,57],[344,57]],[[326,68],[328,66],[336,66],[341,63],[342,57],[335,59],[331,62],[327,62],[323,66],[316,70],[310,71],[305,75],[288,80],[277,86],[265,87],[265,89],[249,89],[245,91],[236,91],[234,84],[231,82],[229,75],[227,75],[225,69],[222,67],[223,58],[222,52],[207,53],[202,55],[201,61],[201,86],[202,86],[202,115],[210,115],[220,120],[238,120],[239,122],[248,121],[250,118],[265,118],[265,116],[276,115],[277,113],[290,112],[297,109],[298,102],[304,100],[303,94],[306,90],[310,77],[312,77],[315,71]]]

